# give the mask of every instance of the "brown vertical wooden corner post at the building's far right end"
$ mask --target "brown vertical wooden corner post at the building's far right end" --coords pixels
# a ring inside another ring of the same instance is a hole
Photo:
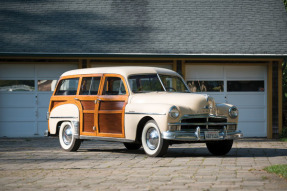
[[[278,62],[278,130],[279,134],[282,133],[283,129],[283,89],[282,89],[282,80],[283,80],[283,71],[282,71],[282,62]]]

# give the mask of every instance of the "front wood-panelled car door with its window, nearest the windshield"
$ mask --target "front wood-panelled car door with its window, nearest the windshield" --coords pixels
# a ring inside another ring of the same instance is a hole
[[[98,136],[125,137],[124,111],[128,100],[125,79],[120,75],[104,75],[101,95],[96,102]]]

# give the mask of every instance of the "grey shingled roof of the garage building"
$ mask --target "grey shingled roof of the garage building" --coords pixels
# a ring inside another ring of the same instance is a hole
[[[0,53],[287,54],[281,0],[1,0]]]

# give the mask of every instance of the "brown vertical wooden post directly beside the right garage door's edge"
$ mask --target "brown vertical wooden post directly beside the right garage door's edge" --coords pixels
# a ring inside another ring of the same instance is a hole
[[[267,67],[267,138],[272,139],[272,62]]]

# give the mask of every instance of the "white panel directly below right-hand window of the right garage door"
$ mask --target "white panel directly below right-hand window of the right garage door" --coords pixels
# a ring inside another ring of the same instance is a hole
[[[236,106],[264,106],[264,95],[256,94],[239,94],[239,95],[227,95],[228,103]]]

